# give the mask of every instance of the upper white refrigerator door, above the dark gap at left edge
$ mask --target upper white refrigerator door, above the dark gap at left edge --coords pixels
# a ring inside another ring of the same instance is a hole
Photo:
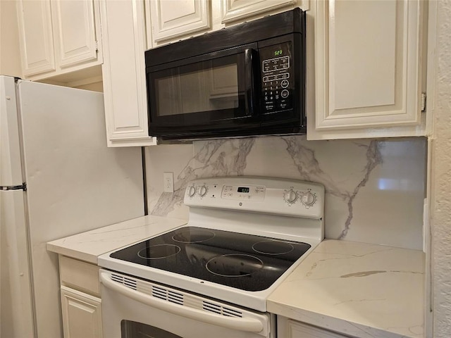
[[[0,76],[0,187],[22,183],[16,83]]]

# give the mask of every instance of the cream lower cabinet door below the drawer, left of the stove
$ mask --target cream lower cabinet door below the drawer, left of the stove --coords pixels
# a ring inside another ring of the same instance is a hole
[[[101,338],[101,299],[61,287],[64,338]]]

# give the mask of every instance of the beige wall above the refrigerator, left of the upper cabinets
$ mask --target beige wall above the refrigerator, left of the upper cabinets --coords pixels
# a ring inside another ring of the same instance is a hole
[[[14,0],[0,0],[0,74],[22,77]]]

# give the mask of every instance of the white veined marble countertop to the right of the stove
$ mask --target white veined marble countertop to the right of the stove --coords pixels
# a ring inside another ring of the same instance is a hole
[[[352,337],[424,337],[424,253],[326,239],[269,296],[268,312]]]

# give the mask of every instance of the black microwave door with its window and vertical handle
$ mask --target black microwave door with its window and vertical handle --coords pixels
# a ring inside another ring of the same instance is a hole
[[[153,136],[218,136],[259,126],[257,43],[149,66],[146,73]]]

